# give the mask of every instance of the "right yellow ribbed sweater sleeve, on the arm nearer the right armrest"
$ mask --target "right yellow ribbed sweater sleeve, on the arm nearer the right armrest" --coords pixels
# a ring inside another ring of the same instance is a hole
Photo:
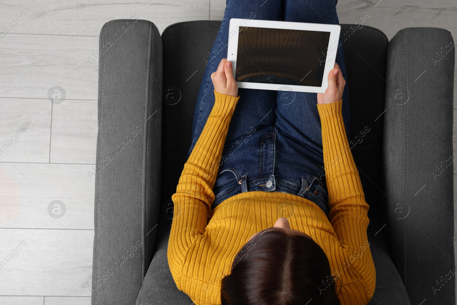
[[[375,290],[376,273],[367,227],[369,206],[365,201],[359,172],[351,154],[341,113],[343,101],[317,104],[322,126],[325,182],[329,194],[329,220],[340,241],[340,258],[349,262],[353,283],[342,287],[352,291],[344,304],[366,305]],[[345,269],[346,269],[345,268]]]

